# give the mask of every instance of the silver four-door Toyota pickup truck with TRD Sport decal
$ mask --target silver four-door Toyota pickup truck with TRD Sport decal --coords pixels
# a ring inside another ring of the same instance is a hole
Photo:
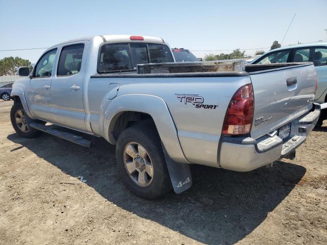
[[[77,131],[105,138],[116,145],[122,181],[155,199],[190,188],[190,164],[250,171],[294,158],[318,120],[311,62],[135,74],[137,64],[162,62],[174,58],[161,38],[54,45],[31,74],[19,68],[26,77],[13,85],[12,126],[22,137],[43,131],[87,147],[92,141]]]

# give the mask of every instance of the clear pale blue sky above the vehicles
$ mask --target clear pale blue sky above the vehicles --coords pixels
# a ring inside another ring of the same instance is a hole
[[[253,55],[282,45],[327,41],[327,0],[311,1],[5,1],[0,0],[0,59],[18,56],[35,63],[49,47],[84,36],[131,34],[162,37],[197,57]],[[218,50],[218,51],[217,51]]]

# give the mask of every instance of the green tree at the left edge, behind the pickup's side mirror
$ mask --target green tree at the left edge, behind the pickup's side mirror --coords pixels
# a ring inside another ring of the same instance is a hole
[[[29,60],[19,57],[6,57],[0,60],[0,76],[15,74],[17,68],[21,66],[29,66],[30,70],[33,68]]]

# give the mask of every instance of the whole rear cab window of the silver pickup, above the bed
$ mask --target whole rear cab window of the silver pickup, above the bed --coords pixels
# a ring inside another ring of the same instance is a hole
[[[153,43],[113,43],[101,47],[98,73],[134,71],[137,64],[174,62],[166,45]]]

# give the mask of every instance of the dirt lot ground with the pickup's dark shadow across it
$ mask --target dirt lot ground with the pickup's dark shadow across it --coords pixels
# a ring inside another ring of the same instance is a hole
[[[190,190],[145,201],[120,181],[114,146],[20,138],[11,105],[0,102],[0,244],[327,244],[327,121],[293,161],[193,166]]]

